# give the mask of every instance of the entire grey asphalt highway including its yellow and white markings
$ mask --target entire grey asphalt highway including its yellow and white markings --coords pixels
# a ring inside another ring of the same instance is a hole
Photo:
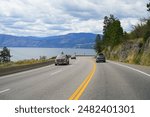
[[[150,67],[79,57],[70,65],[46,66],[0,77],[1,100],[147,100]]]

